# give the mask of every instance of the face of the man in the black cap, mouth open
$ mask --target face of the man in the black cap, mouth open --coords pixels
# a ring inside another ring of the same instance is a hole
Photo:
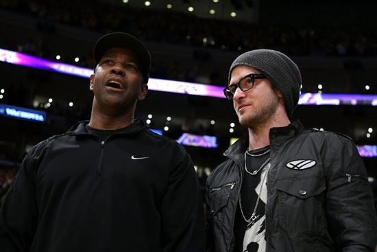
[[[106,51],[90,76],[90,90],[95,95],[93,108],[134,109],[136,100],[143,100],[148,90],[134,52],[123,47]]]

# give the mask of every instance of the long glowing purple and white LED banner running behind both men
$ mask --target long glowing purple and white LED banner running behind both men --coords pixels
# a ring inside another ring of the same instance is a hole
[[[47,71],[89,78],[93,69],[76,67],[52,60],[45,60],[16,51],[0,49],[0,61],[25,67],[34,67]],[[215,98],[225,98],[223,88],[200,83],[180,82],[149,78],[149,90],[188,95],[202,95]],[[302,93],[298,104],[304,105],[369,105],[377,106],[377,95],[335,94],[335,93]]]

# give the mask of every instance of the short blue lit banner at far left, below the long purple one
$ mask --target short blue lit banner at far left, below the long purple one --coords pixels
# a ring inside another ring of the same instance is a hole
[[[0,104],[0,115],[33,122],[46,122],[46,112]]]

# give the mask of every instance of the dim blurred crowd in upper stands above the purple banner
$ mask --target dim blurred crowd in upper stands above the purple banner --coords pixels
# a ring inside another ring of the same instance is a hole
[[[41,29],[54,32],[54,22],[97,32],[125,31],[143,41],[247,51],[278,49],[290,56],[376,56],[377,27],[354,25],[261,25],[201,19],[173,10],[132,9],[110,1],[1,0],[0,7],[41,19]],[[27,45],[25,50],[36,49]]]

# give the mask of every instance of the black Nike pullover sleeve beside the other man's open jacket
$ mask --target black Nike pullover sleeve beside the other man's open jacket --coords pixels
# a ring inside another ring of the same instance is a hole
[[[175,148],[167,192],[162,199],[164,252],[205,251],[204,205],[189,154]]]

